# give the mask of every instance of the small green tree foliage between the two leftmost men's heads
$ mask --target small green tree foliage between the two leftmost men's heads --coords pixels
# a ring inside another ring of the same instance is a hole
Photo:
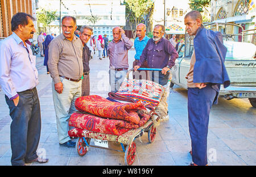
[[[56,12],[57,11],[47,11],[45,9],[40,9],[38,12],[36,12],[36,18],[39,23],[43,24],[43,27],[47,27],[50,23],[53,22],[53,20],[56,19]]]

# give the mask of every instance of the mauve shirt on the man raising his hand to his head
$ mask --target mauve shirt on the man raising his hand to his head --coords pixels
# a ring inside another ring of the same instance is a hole
[[[133,47],[133,42],[124,33],[122,33],[121,40],[117,43],[112,40],[108,46],[109,68],[129,68],[128,50],[131,47]]]

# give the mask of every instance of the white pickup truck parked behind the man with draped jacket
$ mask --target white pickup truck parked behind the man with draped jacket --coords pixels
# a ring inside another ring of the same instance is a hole
[[[229,24],[226,23],[225,25]],[[243,32],[238,35],[241,35],[243,39]],[[224,88],[221,85],[219,95],[224,96],[227,100],[248,98],[251,106],[256,108],[256,47],[251,43],[233,41],[236,35],[224,34],[223,36],[224,45],[228,48],[225,66],[229,74],[230,86]],[[193,36],[186,34],[185,44],[178,49],[179,58],[176,59],[175,66],[171,70],[172,81],[170,87],[176,84],[187,89],[185,76],[189,71],[193,50]]]

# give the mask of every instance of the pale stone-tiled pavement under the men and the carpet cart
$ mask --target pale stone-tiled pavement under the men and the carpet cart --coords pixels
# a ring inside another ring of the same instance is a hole
[[[135,51],[129,51],[132,66]],[[52,101],[51,77],[46,74],[43,58],[37,57],[39,71],[37,86],[41,113],[42,131],[38,147],[39,155],[46,155],[49,162],[43,166],[119,166],[125,165],[124,153],[89,147],[83,157],[75,148],[59,146],[55,109]],[[90,61],[90,94],[107,97],[109,59],[99,60],[97,52]],[[187,90],[174,86],[168,100],[170,120],[160,123],[155,141],[150,144],[145,133],[135,140],[137,155],[134,165],[139,166],[187,166],[191,162],[191,141],[188,132]],[[9,109],[4,94],[0,91],[0,165],[9,166],[10,123]],[[256,109],[247,99],[224,100],[214,105],[210,113],[208,133],[209,165],[256,165]],[[17,135],[18,136],[18,135]],[[73,140],[76,141],[76,140]],[[121,150],[115,142],[110,147]],[[36,164],[27,164],[36,165]]]

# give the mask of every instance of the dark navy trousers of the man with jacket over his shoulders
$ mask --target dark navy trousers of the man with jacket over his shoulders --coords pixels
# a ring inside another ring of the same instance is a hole
[[[217,91],[212,86],[188,88],[188,126],[191,137],[192,161],[207,165],[207,134],[210,108]]]

